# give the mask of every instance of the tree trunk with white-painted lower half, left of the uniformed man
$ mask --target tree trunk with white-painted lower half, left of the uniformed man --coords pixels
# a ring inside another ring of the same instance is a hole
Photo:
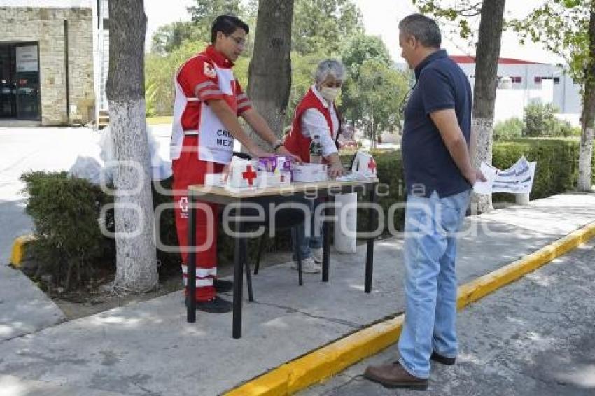
[[[117,267],[114,286],[146,292],[157,285],[158,273],[144,99],[143,0],[110,1],[109,17],[106,93],[111,139],[118,161],[113,175]]]

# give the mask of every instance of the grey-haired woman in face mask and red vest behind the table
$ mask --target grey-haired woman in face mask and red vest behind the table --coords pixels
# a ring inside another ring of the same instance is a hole
[[[318,136],[323,163],[329,165],[328,174],[331,178],[343,174],[337,144],[341,118],[335,106],[335,98],[341,91],[345,75],[345,66],[338,60],[326,59],[318,64],[315,83],[297,105],[291,131],[284,143],[290,153],[298,155],[303,162],[310,162],[310,143],[314,136]],[[319,202],[313,202],[313,209]],[[321,271],[322,227],[321,222],[314,219],[314,215],[310,221],[311,236],[306,235],[305,225],[297,227],[293,232],[292,268],[297,269],[297,258],[301,254],[302,271],[315,274]]]

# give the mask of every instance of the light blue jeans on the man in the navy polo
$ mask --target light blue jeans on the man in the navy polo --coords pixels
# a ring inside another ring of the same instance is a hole
[[[430,376],[432,350],[456,357],[456,232],[470,190],[440,198],[407,197],[405,210],[405,324],[399,362],[418,378]]]

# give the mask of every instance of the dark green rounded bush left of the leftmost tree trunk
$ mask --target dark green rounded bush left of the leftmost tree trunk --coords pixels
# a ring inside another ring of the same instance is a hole
[[[35,227],[33,254],[40,260],[38,273],[50,272],[56,287],[66,290],[97,280],[97,266],[115,255],[114,243],[102,235],[99,222],[113,229],[113,214],[99,218],[111,197],[89,182],[68,178],[66,172],[34,171],[23,174],[27,214]]]

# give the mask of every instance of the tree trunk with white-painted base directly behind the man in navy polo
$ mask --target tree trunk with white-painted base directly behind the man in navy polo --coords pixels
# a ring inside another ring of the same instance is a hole
[[[493,146],[493,109],[496,104],[498,58],[504,24],[505,0],[484,1],[479,22],[479,37],[475,57],[475,87],[471,128],[477,136],[477,153],[472,158],[475,168],[482,162],[491,164]],[[472,211],[491,211],[491,195],[472,197]]]

